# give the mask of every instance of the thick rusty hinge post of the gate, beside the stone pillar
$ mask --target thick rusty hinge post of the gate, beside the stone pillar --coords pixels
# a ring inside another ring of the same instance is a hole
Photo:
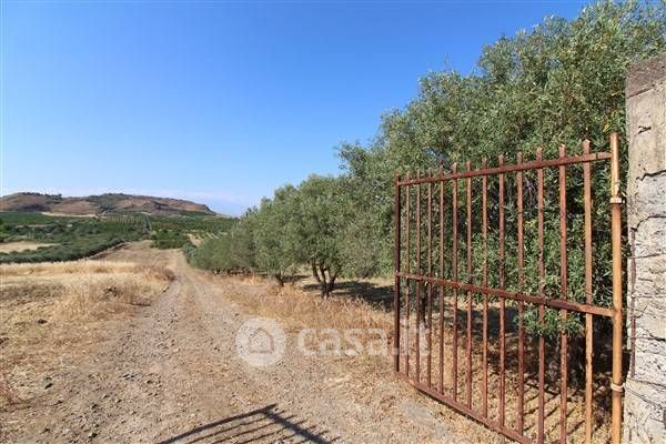
[[[613,242],[613,444],[622,440],[622,198],[619,196],[619,139],[610,134],[610,231]]]

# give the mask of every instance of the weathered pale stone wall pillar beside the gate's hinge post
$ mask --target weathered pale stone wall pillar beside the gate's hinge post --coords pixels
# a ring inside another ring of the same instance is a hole
[[[627,336],[624,442],[666,443],[666,54],[626,83]]]

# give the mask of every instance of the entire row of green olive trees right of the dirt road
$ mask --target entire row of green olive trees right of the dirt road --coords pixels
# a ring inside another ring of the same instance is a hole
[[[603,1],[588,6],[573,20],[546,18],[527,31],[484,47],[476,70],[468,75],[455,71],[427,73],[406,107],[382,117],[371,142],[339,147],[341,175],[311,175],[299,185],[276,190],[272,199],[249,210],[229,235],[204,240],[199,248],[188,245],[186,256],[203,269],[265,273],[280,283],[289,274],[306,269],[320,283],[322,295],[331,294],[341,275],[390,275],[396,173],[425,174],[428,169],[440,168],[450,172],[454,163],[463,168],[466,161],[480,168],[484,159],[493,167],[500,155],[506,163],[515,163],[518,152],[524,152],[525,160],[533,160],[537,147],[543,148],[545,159],[556,158],[561,144],[568,153],[581,154],[585,139],[593,151],[607,150],[609,134],[625,132],[627,70],[632,63],[665,50],[664,2]],[[622,155],[626,168],[626,149]],[[608,201],[608,174],[607,169],[594,171],[595,202]],[[572,190],[567,202],[569,263],[581,264],[583,249],[577,245],[583,245],[583,209],[579,193],[574,191],[582,189],[582,174],[572,169],[567,179]],[[512,180],[507,176],[507,190],[515,188]],[[526,190],[534,190],[535,181],[526,174]],[[546,294],[553,297],[559,296],[559,233],[549,225],[556,224],[558,214],[556,183],[557,171],[546,171]],[[460,201],[464,202],[464,186],[460,192]],[[497,184],[488,183],[491,201],[496,202],[497,193]],[[473,195],[475,208],[481,208],[480,194]],[[509,191],[511,199],[515,195]],[[533,211],[535,200],[534,192],[526,192],[525,208]],[[509,232],[515,230],[515,203],[505,210]],[[497,205],[488,211],[488,219],[496,220]],[[610,248],[608,222],[603,218],[604,206],[597,205],[595,211],[595,263],[603,264]],[[533,215],[527,214],[525,222],[526,258],[534,256],[536,249]],[[446,223],[451,225],[451,221]],[[458,233],[465,232],[465,218],[458,219]],[[480,226],[478,221],[473,223]],[[465,236],[460,238],[460,256],[464,258],[467,245]],[[475,236],[472,248],[478,244]],[[498,226],[491,226],[491,270],[497,266],[497,244]],[[507,286],[512,289],[517,289],[515,250],[515,244],[507,243]],[[481,253],[475,251],[475,258]],[[435,258],[435,270],[437,261]],[[536,285],[532,262],[523,291]],[[477,279],[478,263],[473,276],[466,276],[463,269],[461,280]],[[569,273],[568,297],[584,301],[584,268],[571,266]],[[594,273],[594,302],[608,305],[609,268],[595,266]],[[561,329],[573,333],[579,327],[576,316],[571,316],[567,325],[561,324],[555,312],[547,313],[546,319],[547,325],[538,325],[535,313],[528,311],[528,330],[554,334]]]

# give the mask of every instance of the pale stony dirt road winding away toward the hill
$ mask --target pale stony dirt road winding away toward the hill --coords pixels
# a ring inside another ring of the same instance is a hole
[[[57,370],[39,401],[0,412],[9,441],[466,442],[447,425],[454,414],[393,377],[389,357],[385,372],[357,380],[364,370],[353,359],[304,356],[286,329],[280,362],[255,367],[240,359],[236,332],[253,313],[238,297],[270,285],[213,278],[180,251],[129,248],[104,260],[168,266],[175,280],[103,332],[75,367]]]

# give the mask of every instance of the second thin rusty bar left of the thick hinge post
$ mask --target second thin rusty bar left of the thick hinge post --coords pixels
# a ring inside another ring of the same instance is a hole
[[[559,145],[559,157],[566,158],[566,147]],[[559,167],[559,291],[563,300],[567,299],[567,254],[566,254],[566,167]],[[568,313],[562,310],[562,321],[566,325]],[[566,329],[559,335],[561,341],[561,357],[559,357],[559,442],[566,443],[566,396],[567,396],[567,380],[568,380],[568,335]]]

